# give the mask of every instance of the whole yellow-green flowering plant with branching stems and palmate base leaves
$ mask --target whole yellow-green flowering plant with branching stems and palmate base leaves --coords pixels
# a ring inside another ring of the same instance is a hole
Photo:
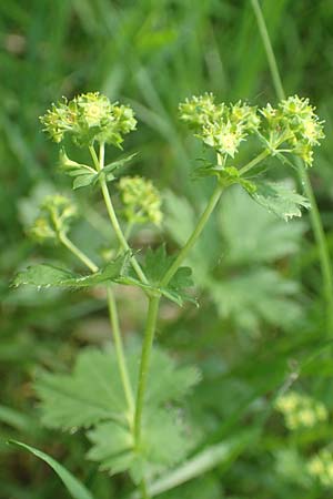
[[[122,149],[124,136],[135,130],[133,110],[111,103],[98,92],[88,93],[53,104],[41,122],[49,136],[61,144],[60,167],[72,179],[73,190],[99,186],[117,237],[112,247],[114,257],[98,266],[71,241],[70,221],[75,208],[69,200],[56,195],[42,203],[30,233],[39,241],[52,240],[65,246],[87,272],[78,274],[42,264],[21,271],[14,278],[16,286],[105,287],[114,350],[83,350],[71,374],[43,373],[37,379],[36,390],[43,424],[69,431],[83,428],[92,445],[88,458],[112,475],[127,471],[138,487],[133,497],[142,499],[151,497],[158,477],[163,481],[168,470],[181,466],[195,450],[200,438],[200,431],[178,411],[183,398],[200,381],[200,373],[193,366],[176,365],[162,349],[153,348],[161,299],[180,306],[193,301],[189,293],[193,285],[191,268],[183,266],[183,262],[230,185],[239,184],[254,202],[283,220],[301,216],[301,208],[310,206],[302,194],[285,184],[263,181],[256,173],[259,166],[269,169],[270,156],[281,160],[282,167],[292,164],[293,155],[310,166],[313,149],[324,136],[314,108],[307,99],[299,96],[282,100],[276,108],[268,104],[258,109],[241,101],[218,104],[206,93],[188,99],[179,111],[181,121],[204,147],[216,154],[213,163],[206,160],[196,171],[199,177],[215,177],[215,187],[183,247],[176,254],[169,254],[165,244],[139,253],[130,247],[129,236],[134,225],[162,226],[161,196],[151,181],[123,175],[123,166],[134,160],[134,154],[105,161],[105,146]],[[246,164],[240,164],[238,153],[250,135],[256,140],[259,153]],[[89,151],[89,164],[68,156],[67,136]],[[119,211],[113,204],[117,191],[122,203]],[[140,348],[123,346],[114,294],[118,284],[138,286],[147,297]],[[307,399],[300,401],[296,395],[294,401],[284,399],[279,404],[279,410],[285,415],[302,406],[303,416],[299,419],[305,426],[313,418],[326,417],[321,406],[307,404]],[[290,422],[295,424],[294,419]],[[195,459],[194,456],[193,462]],[[91,499],[90,492],[84,493],[74,497]]]

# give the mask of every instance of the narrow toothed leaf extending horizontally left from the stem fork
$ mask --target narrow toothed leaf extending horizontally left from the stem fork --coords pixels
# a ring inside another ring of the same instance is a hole
[[[33,285],[37,287],[91,287],[109,281],[117,281],[124,272],[128,262],[128,253],[120,255],[109,262],[103,268],[94,274],[85,276],[74,274],[71,271],[59,268],[53,265],[41,264],[28,267],[19,272],[13,279],[14,286]]]

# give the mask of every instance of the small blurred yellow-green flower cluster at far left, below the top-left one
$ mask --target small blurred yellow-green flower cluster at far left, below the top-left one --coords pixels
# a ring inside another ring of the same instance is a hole
[[[31,237],[39,242],[58,240],[59,234],[65,234],[70,221],[77,214],[73,203],[61,194],[47,196],[40,205],[40,214],[29,230]]]

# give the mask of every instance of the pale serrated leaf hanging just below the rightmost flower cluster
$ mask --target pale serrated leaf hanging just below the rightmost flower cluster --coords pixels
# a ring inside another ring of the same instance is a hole
[[[302,216],[301,207],[311,207],[310,201],[291,189],[287,182],[260,183],[251,196],[269,212],[286,222],[294,216]]]

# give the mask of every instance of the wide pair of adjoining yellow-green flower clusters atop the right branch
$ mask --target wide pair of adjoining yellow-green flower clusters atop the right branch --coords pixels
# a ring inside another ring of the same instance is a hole
[[[179,106],[180,119],[195,136],[222,156],[234,155],[242,141],[256,132],[272,154],[289,152],[300,156],[306,165],[313,162],[313,147],[324,138],[323,122],[315,114],[309,99],[297,95],[282,100],[278,108],[268,104],[260,109],[243,102],[215,104],[212,93],[193,96]],[[287,149],[279,149],[285,145]]]

